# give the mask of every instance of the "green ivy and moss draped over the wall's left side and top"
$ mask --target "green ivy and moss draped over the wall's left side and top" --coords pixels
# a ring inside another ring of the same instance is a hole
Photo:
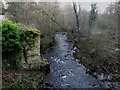
[[[7,70],[17,70],[20,67],[21,53],[26,47],[34,46],[36,37],[40,31],[32,28],[20,29],[20,25],[10,20],[0,22],[0,32],[2,32],[2,56],[3,67]],[[26,44],[25,44],[26,43]]]

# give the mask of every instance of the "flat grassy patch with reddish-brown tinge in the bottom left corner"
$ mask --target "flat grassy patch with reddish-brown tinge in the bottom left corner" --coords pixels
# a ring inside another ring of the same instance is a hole
[[[3,88],[36,88],[42,80],[44,73],[41,71],[3,71]]]

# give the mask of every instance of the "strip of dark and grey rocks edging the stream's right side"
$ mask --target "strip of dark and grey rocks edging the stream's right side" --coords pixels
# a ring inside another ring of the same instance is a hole
[[[81,59],[81,57],[77,56],[80,54],[81,54],[80,52],[76,51],[74,53],[74,56],[76,59],[78,59],[79,63],[83,64],[87,68],[86,73],[92,75],[93,77],[101,81],[104,87],[106,88],[120,88],[119,80],[115,80],[111,74],[105,73],[106,70],[104,68],[94,65],[92,62],[91,62],[92,64],[86,63],[86,62],[90,62],[88,61],[89,59],[86,60],[86,57],[82,57]],[[79,61],[79,59],[81,60]],[[82,60],[86,60],[86,61],[82,61]]]

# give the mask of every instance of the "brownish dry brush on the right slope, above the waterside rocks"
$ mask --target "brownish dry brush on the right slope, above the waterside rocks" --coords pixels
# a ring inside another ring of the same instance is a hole
[[[81,39],[77,45],[85,50],[77,50],[76,58],[93,72],[112,73],[119,75],[120,66],[118,51],[116,51],[116,39],[109,35],[110,30],[92,30],[90,39]],[[106,69],[104,70],[103,67]],[[107,72],[108,71],[108,72]]]

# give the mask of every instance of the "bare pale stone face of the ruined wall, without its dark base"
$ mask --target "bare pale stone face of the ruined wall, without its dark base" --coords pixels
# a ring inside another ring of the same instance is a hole
[[[30,49],[26,50],[26,60],[25,62],[25,56],[22,54],[22,61],[24,62],[24,66],[28,66],[30,68],[35,67],[36,65],[41,63],[41,56],[40,56],[40,36],[37,36],[35,39],[34,46]],[[28,68],[26,67],[26,68]]]

